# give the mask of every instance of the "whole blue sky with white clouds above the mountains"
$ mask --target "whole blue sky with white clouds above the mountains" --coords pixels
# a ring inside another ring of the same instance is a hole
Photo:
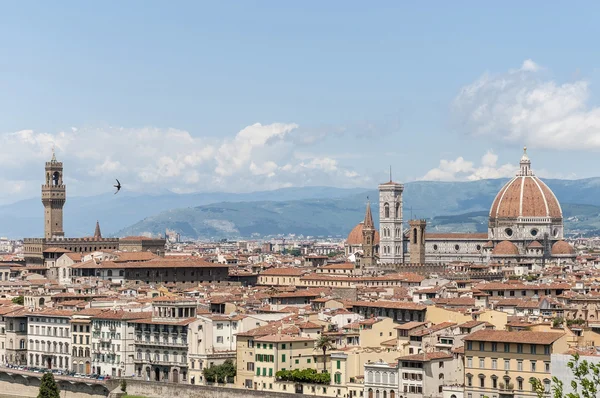
[[[0,203],[600,175],[600,3],[418,3],[5,3]]]

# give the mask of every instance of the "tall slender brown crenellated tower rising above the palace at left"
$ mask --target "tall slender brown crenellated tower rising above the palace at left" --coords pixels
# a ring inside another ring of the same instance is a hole
[[[67,199],[63,183],[62,162],[56,160],[54,149],[52,159],[46,162],[46,183],[42,185],[42,203],[44,205],[44,238],[64,236],[62,209]]]

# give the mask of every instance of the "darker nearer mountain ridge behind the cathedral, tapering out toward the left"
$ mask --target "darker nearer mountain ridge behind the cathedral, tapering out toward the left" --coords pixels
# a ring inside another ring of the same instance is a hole
[[[404,219],[427,218],[429,230],[487,230],[489,207],[505,179],[405,184]],[[546,180],[562,203],[568,232],[600,229],[600,178]],[[278,234],[345,236],[364,216],[372,198],[378,222],[377,191],[338,198],[213,203],[173,209],[147,217],[117,235],[158,234],[173,229],[190,238],[252,237]]]

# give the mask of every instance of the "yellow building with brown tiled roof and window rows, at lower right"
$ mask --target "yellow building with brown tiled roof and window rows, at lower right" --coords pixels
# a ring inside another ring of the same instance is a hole
[[[565,333],[480,330],[464,341],[465,398],[533,398],[531,377],[550,391],[551,355],[568,349]]]

